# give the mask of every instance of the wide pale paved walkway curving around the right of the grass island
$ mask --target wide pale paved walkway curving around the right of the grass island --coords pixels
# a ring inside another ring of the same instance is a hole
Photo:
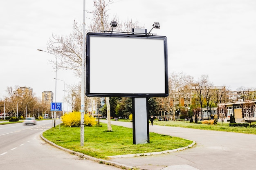
[[[101,120],[106,122],[106,120]],[[132,123],[111,121],[132,128]],[[170,126],[149,127],[150,132],[196,142],[187,150],[144,157],[113,158],[111,161],[143,170],[253,170],[256,169],[256,135]]]

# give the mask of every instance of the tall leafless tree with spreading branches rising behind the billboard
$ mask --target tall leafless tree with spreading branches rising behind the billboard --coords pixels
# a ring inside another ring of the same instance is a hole
[[[87,31],[100,32],[101,30],[110,31],[110,19],[108,15],[108,7],[112,3],[111,0],[94,0],[94,10],[88,11],[91,14],[91,24]],[[117,19],[117,17],[113,17]],[[121,22],[118,21],[121,28],[132,29],[126,26],[133,26],[136,28],[137,22]],[[82,65],[82,31],[81,25],[78,25],[76,21],[73,24],[73,32],[69,36],[52,35],[52,39],[48,41],[47,50],[56,54],[58,57],[58,68],[71,69],[76,76],[81,77],[81,65]],[[52,60],[51,62],[54,63]],[[54,63],[56,64],[56,63]],[[107,103],[108,105],[108,103]],[[108,113],[110,115],[110,113]],[[110,116],[109,116],[110,118]]]

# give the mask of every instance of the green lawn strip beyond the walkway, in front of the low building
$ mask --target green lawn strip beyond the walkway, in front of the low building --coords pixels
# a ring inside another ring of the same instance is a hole
[[[255,134],[256,128],[245,128],[245,127],[229,127],[229,123],[227,122],[218,122],[216,125],[208,125],[208,124],[195,124],[189,123],[189,121],[154,121],[155,125],[162,126],[173,126],[173,127],[182,127],[182,128],[195,128],[195,129],[203,129],[203,130],[216,130],[216,131],[225,131],[225,132],[238,132],[238,133],[246,133],[246,134]]]

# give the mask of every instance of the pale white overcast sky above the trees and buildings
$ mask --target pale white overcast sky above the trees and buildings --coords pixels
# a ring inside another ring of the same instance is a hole
[[[86,0],[86,10],[93,0]],[[256,87],[255,0],[113,0],[108,11],[119,20],[139,20],[151,33],[168,38],[168,70],[195,80],[209,75],[215,86],[236,90]],[[90,15],[86,15],[86,24]],[[52,34],[68,35],[74,19],[82,24],[83,0],[0,1],[0,99],[8,86],[29,86],[36,96],[55,91],[54,55],[47,50]],[[79,79],[58,70],[65,84]],[[57,102],[63,99],[57,82]],[[67,95],[67,94],[66,94]]]

